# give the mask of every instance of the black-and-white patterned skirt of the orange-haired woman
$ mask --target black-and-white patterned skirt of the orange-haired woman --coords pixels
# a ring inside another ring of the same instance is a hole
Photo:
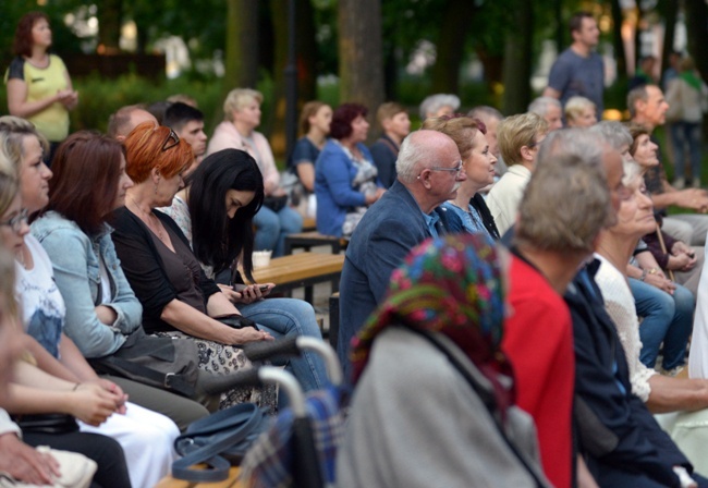
[[[243,350],[237,345],[225,345],[219,342],[197,339],[182,332],[156,332],[159,337],[178,337],[196,342],[199,350],[199,369],[218,375],[229,375],[236,371],[245,371],[253,367],[253,364]],[[271,414],[278,412],[278,389],[268,385],[263,388],[234,388],[221,393],[219,410],[237,405],[239,403],[255,403],[267,408]]]

